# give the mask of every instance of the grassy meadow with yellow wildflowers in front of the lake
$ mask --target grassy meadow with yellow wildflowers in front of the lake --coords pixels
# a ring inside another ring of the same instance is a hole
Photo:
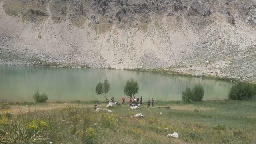
[[[256,101],[156,102],[154,107],[143,104],[136,110],[126,104],[110,108],[112,112],[95,112],[93,106],[90,102],[10,105],[1,110],[0,143],[256,143]],[[144,118],[130,117],[136,113]],[[179,138],[167,137],[173,132]]]

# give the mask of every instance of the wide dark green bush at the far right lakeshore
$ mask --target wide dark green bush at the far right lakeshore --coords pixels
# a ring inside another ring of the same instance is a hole
[[[238,83],[229,91],[228,98],[232,100],[250,100],[254,95],[254,85],[249,83]]]

